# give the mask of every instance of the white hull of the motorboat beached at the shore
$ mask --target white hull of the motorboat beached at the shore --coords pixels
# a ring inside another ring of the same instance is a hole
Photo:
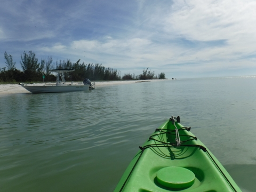
[[[23,85],[31,93],[61,93],[73,91],[86,91],[90,85]]]

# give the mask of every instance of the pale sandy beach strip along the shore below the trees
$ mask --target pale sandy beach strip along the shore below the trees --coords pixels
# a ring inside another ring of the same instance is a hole
[[[97,87],[103,87],[103,86],[113,86],[113,85],[124,85],[124,84],[133,84],[133,83],[150,83],[150,82],[156,82],[156,81],[168,81],[170,79],[153,79],[153,80],[138,80],[138,81],[105,81],[105,82],[95,82]],[[44,85],[43,83],[38,83],[36,85]],[[21,85],[17,84],[0,84],[0,95],[2,94],[20,94],[20,93],[30,93],[24,89]]]

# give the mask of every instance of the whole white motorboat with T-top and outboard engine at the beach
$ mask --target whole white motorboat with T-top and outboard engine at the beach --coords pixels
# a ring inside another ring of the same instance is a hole
[[[26,90],[31,93],[59,93],[59,92],[71,92],[71,91],[85,91],[89,88],[95,88],[95,83],[91,83],[89,79],[85,79],[83,82],[70,82],[67,83],[64,78],[64,73],[73,71],[74,69],[53,69],[52,72],[57,73],[56,83],[44,83],[43,85],[37,84],[21,84]],[[60,81],[60,78],[62,81]]]

